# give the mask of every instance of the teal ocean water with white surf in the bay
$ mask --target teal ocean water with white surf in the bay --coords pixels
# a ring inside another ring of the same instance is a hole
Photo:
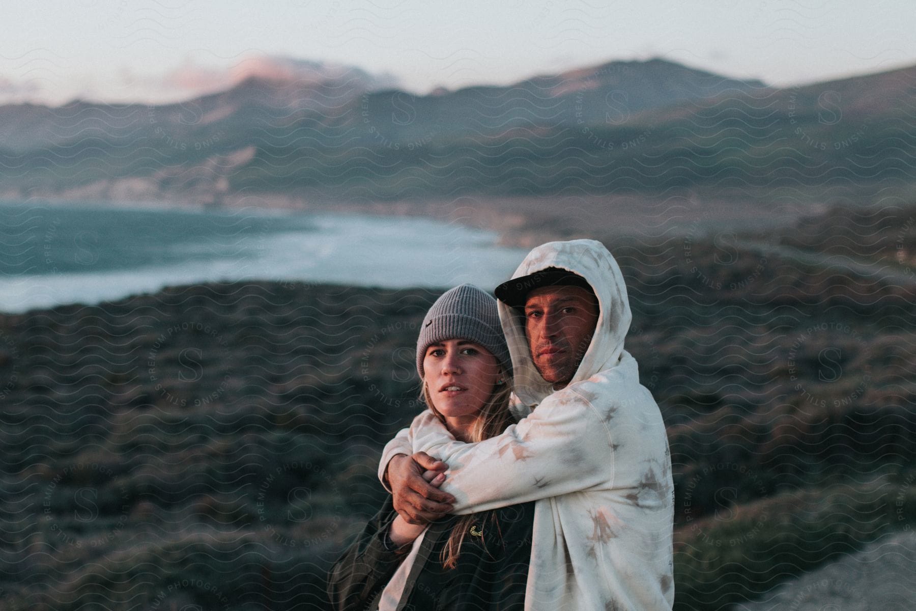
[[[244,279],[493,289],[527,253],[496,240],[410,217],[0,202],[0,311]]]

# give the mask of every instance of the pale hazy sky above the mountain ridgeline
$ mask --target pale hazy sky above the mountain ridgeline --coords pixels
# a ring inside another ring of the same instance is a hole
[[[912,0],[4,3],[0,101],[191,97],[281,55],[426,93],[660,56],[774,84],[916,64]]]

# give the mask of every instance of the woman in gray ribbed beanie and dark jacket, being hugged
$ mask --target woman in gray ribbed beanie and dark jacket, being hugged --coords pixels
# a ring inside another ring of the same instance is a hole
[[[480,442],[513,423],[511,371],[496,300],[473,285],[445,292],[417,340],[426,405],[455,439]],[[444,474],[427,472],[434,486]],[[341,611],[518,609],[524,605],[534,503],[417,527],[385,505],[334,564],[328,593]]]

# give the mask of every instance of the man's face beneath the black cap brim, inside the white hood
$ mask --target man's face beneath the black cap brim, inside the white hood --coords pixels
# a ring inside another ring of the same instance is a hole
[[[525,301],[525,333],[531,360],[554,388],[566,386],[598,322],[598,304],[591,291],[581,287],[534,289]]]

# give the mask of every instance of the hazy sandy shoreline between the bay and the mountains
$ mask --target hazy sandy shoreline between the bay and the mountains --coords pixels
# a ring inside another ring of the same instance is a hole
[[[7,194],[8,201],[15,201]],[[499,245],[531,248],[551,240],[588,237],[599,240],[655,240],[682,235],[697,224],[735,231],[761,231],[787,226],[802,214],[823,212],[823,206],[778,191],[703,194],[692,190],[662,194],[576,194],[556,197],[429,198],[399,201],[341,201],[324,194],[161,193],[73,189],[35,195],[33,201],[67,205],[86,202],[116,208],[232,211],[254,208],[287,213],[373,214],[412,216],[458,223],[496,232]],[[29,200],[25,200],[29,201]]]

